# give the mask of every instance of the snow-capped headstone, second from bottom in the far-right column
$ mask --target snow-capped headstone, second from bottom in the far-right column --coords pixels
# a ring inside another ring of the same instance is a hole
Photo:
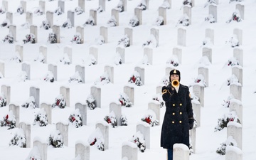
[[[238,148],[242,149],[242,124],[238,122],[228,122],[227,137],[232,136],[238,143]]]

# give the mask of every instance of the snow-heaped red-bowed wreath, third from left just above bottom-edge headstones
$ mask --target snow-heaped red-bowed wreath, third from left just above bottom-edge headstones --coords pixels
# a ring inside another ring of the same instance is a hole
[[[95,132],[93,132],[90,135],[87,142],[90,144],[90,146],[94,146],[94,145],[97,146],[97,149],[99,149],[100,151],[105,150],[104,138],[99,127],[97,127],[95,129]]]

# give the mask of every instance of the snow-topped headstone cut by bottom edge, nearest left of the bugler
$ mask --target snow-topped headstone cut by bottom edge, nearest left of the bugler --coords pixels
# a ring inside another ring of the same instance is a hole
[[[133,142],[122,143],[122,159],[137,160],[138,159],[138,147]]]

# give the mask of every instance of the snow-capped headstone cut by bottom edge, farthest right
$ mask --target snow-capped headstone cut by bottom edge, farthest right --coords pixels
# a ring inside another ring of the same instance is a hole
[[[242,150],[236,146],[226,146],[225,160],[242,160]]]

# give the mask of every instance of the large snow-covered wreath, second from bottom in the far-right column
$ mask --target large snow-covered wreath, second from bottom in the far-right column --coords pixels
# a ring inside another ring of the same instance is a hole
[[[218,119],[218,125],[215,127],[214,132],[220,131],[227,127],[228,122],[238,122],[241,124],[240,119],[238,118],[238,115],[235,111],[228,112],[223,114],[223,117]]]

